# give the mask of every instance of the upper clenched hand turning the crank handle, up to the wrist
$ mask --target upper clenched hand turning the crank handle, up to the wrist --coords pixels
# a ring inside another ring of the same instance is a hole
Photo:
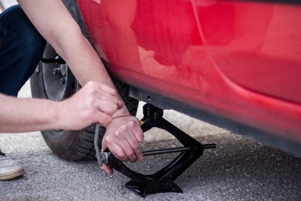
[[[123,106],[115,95],[116,91],[107,85],[88,82],[71,98],[59,103],[60,129],[80,130],[94,123],[106,127]]]

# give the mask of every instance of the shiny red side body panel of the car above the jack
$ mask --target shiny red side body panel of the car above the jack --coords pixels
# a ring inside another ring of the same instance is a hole
[[[301,7],[77,1],[119,80],[301,143]]]

